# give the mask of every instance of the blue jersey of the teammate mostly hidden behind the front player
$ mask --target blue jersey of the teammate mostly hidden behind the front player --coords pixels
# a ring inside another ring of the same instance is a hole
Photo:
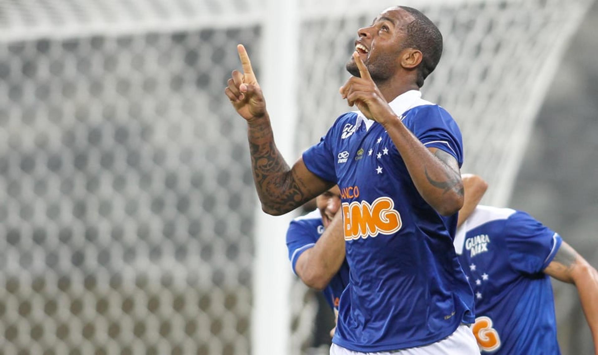
[[[291,260],[295,274],[297,274],[295,271],[297,259],[304,251],[313,248],[323,232],[324,224],[322,224],[322,216],[318,210],[298,217],[289,224],[289,229],[286,231],[286,247],[289,250],[289,260]],[[347,283],[349,283],[349,265],[345,260],[328,286],[322,290],[326,301],[335,310],[338,310],[338,300]]]

